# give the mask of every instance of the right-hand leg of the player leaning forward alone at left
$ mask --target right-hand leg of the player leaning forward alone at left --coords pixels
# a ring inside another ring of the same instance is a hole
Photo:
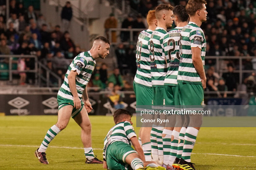
[[[74,121],[81,127],[81,140],[83,143],[84,155],[86,157],[86,164],[103,164],[102,161],[94,158],[92,149],[91,130],[92,125],[88,117],[88,113],[83,107],[78,111],[77,115],[73,116]]]

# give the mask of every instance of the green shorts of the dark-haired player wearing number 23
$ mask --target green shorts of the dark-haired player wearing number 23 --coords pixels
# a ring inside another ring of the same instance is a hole
[[[165,106],[179,106],[179,89],[177,86],[164,86],[164,105]]]

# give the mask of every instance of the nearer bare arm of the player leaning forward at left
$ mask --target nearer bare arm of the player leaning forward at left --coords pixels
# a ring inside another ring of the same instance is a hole
[[[69,87],[71,90],[71,93],[74,97],[74,108],[79,109],[81,108],[81,101],[78,97],[78,93],[76,91],[76,84],[75,84],[75,76],[77,75],[76,71],[71,70],[70,74],[68,75],[69,80]]]

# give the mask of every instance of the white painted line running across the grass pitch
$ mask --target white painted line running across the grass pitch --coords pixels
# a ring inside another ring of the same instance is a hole
[[[38,147],[38,146],[33,146],[33,145],[1,145],[4,147]],[[66,149],[83,149],[81,147],[55,147],[51,146],[54,148],[66,148]],[[94,150],[103,150],[101,148],[93,148]],[[248,158],[256,158],[256,156],[242,156],[242,155],[227,155],[227,154],[213,154],[213,153],[192,153],[192,154],[197,154],[197,155],[220,155],[220,156],[235,156],[235,157],[248,157]]]

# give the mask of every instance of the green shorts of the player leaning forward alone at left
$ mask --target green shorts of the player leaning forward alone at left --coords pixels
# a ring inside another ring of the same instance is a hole
[[[74,106],[74,101],[73,100],[69,100],[69,99],[65,99],[59,95],[57,95],[57,101],[58,101],[58,106],[59,106],[59,110],[61,108],[63,108],[64,106],[67,106],[67,105],[72,105]],[[76,108],[73,108],[72,110],[72,114],[71,114],[71,117],[74,119],[74,117],[76,117],[78,115],[78,113],[81,112],[82,108],[83,108],[83,101],[81,100],[81,108],[80,109],[76,109]]]

